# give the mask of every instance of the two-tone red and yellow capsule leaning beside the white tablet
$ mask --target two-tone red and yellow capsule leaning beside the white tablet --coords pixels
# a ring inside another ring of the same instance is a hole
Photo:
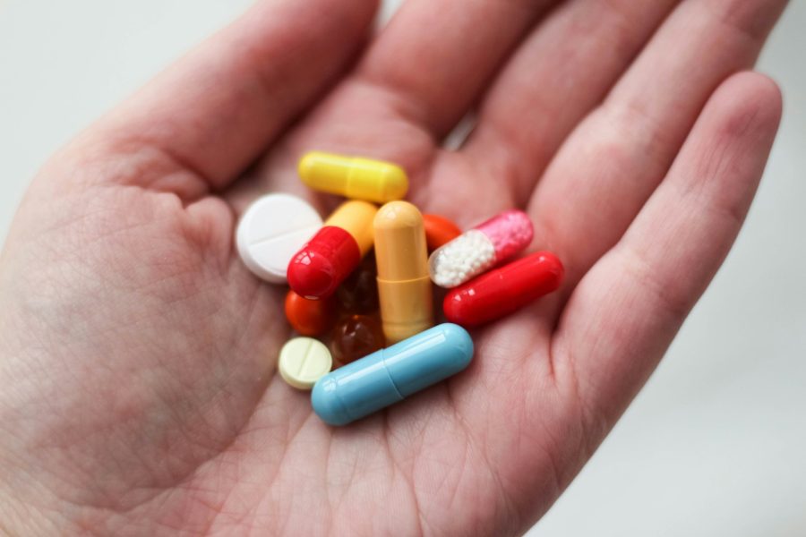
[[[373,247],[372,203],[346,201],[288,263],[288,285],[309,300],[333,294]]]

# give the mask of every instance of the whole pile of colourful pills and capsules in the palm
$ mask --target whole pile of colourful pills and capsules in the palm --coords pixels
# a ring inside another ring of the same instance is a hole
[[[466,328],[562,283],[562,263],[548,251],[510,261],[532,242],[523,211],[462,233],[402,200],[408,179],[394,164],[311,152],[298,171],[309,187],[347,201],[322,222],[296,196],[263,196],[241,218],[236,242],[255,276],[291,287],[286,319],[299,337],[280,350],[279,372],[290,386],[313,389],[313,411],[331,425],[464,370],[473,357]],[[434,285],[450,289],[442,307],[434,307]]]

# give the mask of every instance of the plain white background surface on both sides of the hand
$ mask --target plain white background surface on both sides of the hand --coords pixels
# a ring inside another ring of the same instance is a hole
[[[0,0],[0,236],[58,145],[250,3]],[[804,28],[793,2],[759,64],[785,119],[738,243],[535,535],[806,534]]]

